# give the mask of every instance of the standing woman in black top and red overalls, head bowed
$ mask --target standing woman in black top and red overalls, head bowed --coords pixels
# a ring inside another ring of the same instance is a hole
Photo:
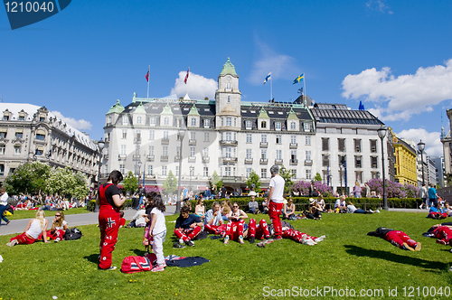
[[[114,270],[111,267],[111,253],[118,240],[119,210],[126,198],[119,192],[118,183],[122,181],[118,170],[108,175],[107,183],[100,185],[96,204],[99,205],[100,258],[99,268]]]

